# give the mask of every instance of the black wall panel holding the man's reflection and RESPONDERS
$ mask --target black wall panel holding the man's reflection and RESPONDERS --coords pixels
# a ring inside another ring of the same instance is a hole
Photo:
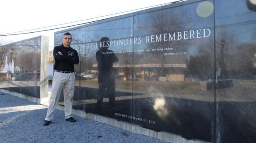
[[[124,17],[88,25],[86,71],[96,74],[86,80],[86,112],[131,122],[133,18]],[[105,90],[106,89],[106,90]]]

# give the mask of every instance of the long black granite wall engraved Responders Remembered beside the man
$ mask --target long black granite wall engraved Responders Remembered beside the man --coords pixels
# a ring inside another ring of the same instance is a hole
[[[69,31],[80,56],[73,108],[187,139],[253,143],[255,19],[250,0],[188,0],[56,32],[55,45]],[[102,112],[95,55],[105,45],[119,61]]]

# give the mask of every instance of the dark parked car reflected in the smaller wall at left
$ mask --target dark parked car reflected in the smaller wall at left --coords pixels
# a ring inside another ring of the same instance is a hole
[[[40,73],[21,73],[20,75],[14,75],[12,81],[38,81],[40,80]]]

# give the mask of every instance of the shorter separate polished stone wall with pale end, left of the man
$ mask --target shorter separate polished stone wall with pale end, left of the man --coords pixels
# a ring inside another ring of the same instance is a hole
[[[46,36],[1,46],[2,51],[6,50],[3,54],[7,56],[7,64],[10,65],[11,61],[14,61],[14,73],[0,73],[0,88],[39,99],[47,97],[48,62],[41,67],[41,61],[45,62],[48,58],[48,48],[49,39]],[[6,62],[6,58],[3,62]],[[1,71],[3,69],[4,67]]]

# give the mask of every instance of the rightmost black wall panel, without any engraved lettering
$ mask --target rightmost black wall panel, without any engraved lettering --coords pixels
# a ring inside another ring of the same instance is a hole
[[[250,1],[215,0],[219,143],[256,141],[256,9]]]

